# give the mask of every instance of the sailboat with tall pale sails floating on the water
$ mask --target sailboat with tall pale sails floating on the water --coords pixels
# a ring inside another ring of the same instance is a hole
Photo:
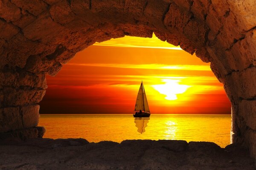
[[[146,97],[143,82],[141,81],[140,89],[137,95],[136,104],[134,108],[134,117],[149,117],[150,111],[148,107],[148,100]]]

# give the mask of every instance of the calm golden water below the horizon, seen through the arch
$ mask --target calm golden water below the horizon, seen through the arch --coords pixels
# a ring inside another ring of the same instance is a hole
[[[41,115],[45,138],[84,138],[89,142],[125,139],[174,139],[230,144],[230,115],[152,114],[134,119],[125,114]]]

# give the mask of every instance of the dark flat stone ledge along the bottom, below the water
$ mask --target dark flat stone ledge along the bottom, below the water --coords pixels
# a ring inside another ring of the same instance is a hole
[[[255,170],[248,150],[212,142],[85,139],[0,141],[0,170]]]

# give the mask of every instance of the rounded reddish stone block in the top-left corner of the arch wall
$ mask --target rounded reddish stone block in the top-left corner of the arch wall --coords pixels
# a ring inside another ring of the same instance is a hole
[[[0,17],[6,20],[8,23],[18,20],[20,18],[20,8],[10,3],[9,0],[0,1]]]

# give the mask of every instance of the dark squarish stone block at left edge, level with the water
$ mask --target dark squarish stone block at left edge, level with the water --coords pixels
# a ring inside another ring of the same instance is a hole
[[[0,108],[0,133],[22,128],[20,109],[18,107]]]

